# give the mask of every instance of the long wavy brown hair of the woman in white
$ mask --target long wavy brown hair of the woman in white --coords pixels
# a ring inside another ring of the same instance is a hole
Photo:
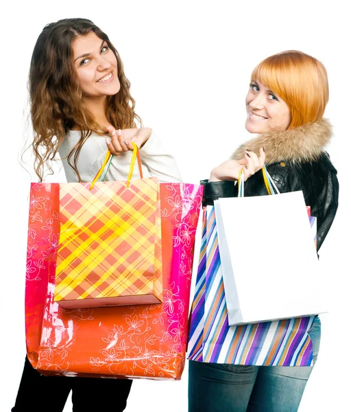
[[[114,128],[133,128],[142,125],[134,112],[135,101],[130,95],[130,82],[125,77],[122,60],[108,36],[87,19],[63,19],[46,25],[40,33],[29,69],[29,102],[34,140],[34,169],[43,181],[45,168],[53,172],[52,160],[67,130],[80,130],[80,141],[68,156],[69,165],[77,170],[80,150],[91,133],[104,135],[93,113],[84,106],[82,90],[77,82],[73,65],[72,43],[77,36],[94,32],[108,43],[117,58],[118,78],[121,89],[108,96],[106,117]],[[100,129],[100,130],[99,130]]]

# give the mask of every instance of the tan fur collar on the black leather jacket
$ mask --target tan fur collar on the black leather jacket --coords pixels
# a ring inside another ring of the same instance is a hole
[[[305,124],[292,130],[271,132],[257,135],[235,150],[231,159],[240,160],[245,150],[258,155],[260,148],[265,148],[266,161],[269,165],[279,161],[302,163],[315,161],[325,150],[332,137],[332,126],[328,119]]]

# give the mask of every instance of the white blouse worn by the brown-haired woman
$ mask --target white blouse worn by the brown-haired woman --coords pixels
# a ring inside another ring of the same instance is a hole
[[[84,143],[77,159],[77,169],[80,172],[82,181],[93,181],[97,172],[99,172],[102,163],[104,163],[106,152],[108,150],[105,139],[106,137],[93,133]],[[77,173],[69,165],[67,157],[79,140],[80,131],[69,130],[58,149],[62,159],[64,173],[66,174],[66,179],[69,183],[78,181]],[[140,157],[144,177],[158,177],[160,182],[182,182],[182,177],[180,176],[173,155],[171,155],[164,142],[158,139],[154,132],[143,148],[141,148]],[[126,180],[131,159],[131,151],[123,152],[119,156],[114,156],[106,175],[106,181]],[[72,161],[73,159],[71,159],[71,163]],[[136,164],[133,179],[138,179],[138,176],[138,167]]]

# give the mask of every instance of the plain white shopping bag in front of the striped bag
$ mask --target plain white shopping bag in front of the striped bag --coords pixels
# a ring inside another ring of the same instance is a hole
[[[327,312],[301,191],[214,203],[229,325]]]

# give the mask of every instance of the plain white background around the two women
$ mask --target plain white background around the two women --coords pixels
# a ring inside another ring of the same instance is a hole
[[[91,19],[108,34],[132,82],[136,112],[145,126],[172,145],[183,179],[189,183],[208,177],[211,168],[250,137],[244,128],[244,100],[258,62],[287,49],[302,50],[324,62],[330,82],[326,117],[335,133],[328,152],[339,171],[340,206],[320,251],[329,277],[330,313],[322,315],[319,360],[299,411],[348,409],[351,109],[350,20],[344,3],[34,0],[6,4],[0,27],[1,412],[10,411],[14,404],[25,358],[27,201],[34,175],[19,164],[19,152],[23,139],[30,138],[25,122],[29,60],[44,25],[67,17]],[[64,179],[62,171],[55,179]],[[250,238],[258,234],[242,236],[243,244],[250,245]],[[247,262],[247,270],[256,264]],[[187,364],[179,382],[134,381],[126,411],[186,411],[186,405]],[[70,400],[64,411],[71,411]]]

